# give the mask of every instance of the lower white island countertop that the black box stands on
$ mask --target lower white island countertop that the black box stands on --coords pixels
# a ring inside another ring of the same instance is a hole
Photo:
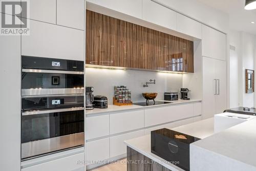
[[[168,127],[166,127],[168,129]],[[174,131],[181,132],[184,134],[188,134],[191,136],[195,136],[198,138],[206,138],[214,134],[214,118],[201,120],[198,122],[186,124],[183,126],[171,128]],[[124,143],[135,149],[140,154],[158,162],[159,164],[163,165],[164,167],[170,170],[183,170],[177,167],[174,164],[168,163],[166,160],[160,158],[159,156],[151,153],[151,135],[146,135],[138,138],[134,138],[131,140],[126,140]]]

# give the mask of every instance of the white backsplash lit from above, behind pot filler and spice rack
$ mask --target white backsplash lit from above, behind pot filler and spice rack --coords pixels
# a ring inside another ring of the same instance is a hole
[[[144,88],[143,84],[150,79],[156,79],[156,84]],[[94,96],[108,97],[109,104],[113,104],[114,86],[127,86],[132,92],[133,102],[145,101],[141,94],[144,92],[158,93],[156,100],[163,100],[164,92],[179,92],[182,74],[86,68],[86,86],[94,87]]]

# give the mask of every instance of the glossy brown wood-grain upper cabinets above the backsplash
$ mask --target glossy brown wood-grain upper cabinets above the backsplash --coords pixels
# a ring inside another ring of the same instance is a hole
[[[89,10],[86,22],[87,64],[194,72],[193,41]]]

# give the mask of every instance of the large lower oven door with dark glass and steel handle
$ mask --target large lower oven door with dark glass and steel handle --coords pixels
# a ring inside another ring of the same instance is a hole
[[[22,113],[23,160],[84,144],[84,108],[51,111]]]

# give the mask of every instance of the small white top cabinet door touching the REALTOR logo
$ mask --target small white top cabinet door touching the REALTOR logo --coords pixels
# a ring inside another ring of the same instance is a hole
[[[56,24],[56,0],[28,1],[29,19]]]

